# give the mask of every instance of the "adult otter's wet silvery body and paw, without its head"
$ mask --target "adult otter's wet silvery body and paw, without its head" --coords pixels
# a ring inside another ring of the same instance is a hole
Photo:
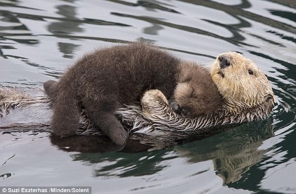
[[[35,129],[51,132],[52,106],[53,103],[42,89],[0,86],[0,131]],[[212,133],[213,127],[216,126],[220,130],[224,128],[221,126],[266,118],[258,116],[257,109],[248,112],[247,115],[219,114],[204,115],[194,119],[185,118],[171,109],[167,99],[159,90],[146,92],[142,98],[142,107],[143,110],[137,106],[126,106],[114,113],[129,134],[185,138],[192,134]],[[76,134],[102,135],[103,133],[91,124],[82,110]]]

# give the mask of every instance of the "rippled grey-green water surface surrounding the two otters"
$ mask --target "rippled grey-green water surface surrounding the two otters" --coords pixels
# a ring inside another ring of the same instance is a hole
[[[271,82],[271,117],[162,149],[130,141],[120,150],[104,138],[1,132],[0,186],[296,193],[295,0],[0,0],[0,84],[41,87],[95,47],[136,40],[202,64],[241,52]]]

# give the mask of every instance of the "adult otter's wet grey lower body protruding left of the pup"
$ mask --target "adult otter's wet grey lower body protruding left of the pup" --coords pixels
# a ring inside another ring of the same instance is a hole
[[[41,89],[0,87],[0,130],[49,130],[51,101]]]

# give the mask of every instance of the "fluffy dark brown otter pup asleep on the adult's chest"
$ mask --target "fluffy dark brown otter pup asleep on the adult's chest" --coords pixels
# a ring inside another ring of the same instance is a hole
[[[160,90],[174,100],[175,109],[190,117],[209,114],[222,101],[207,70],[139,42],[86,54],[59,82],[45,82],[44,89],[54,101],[54,134],[73,135],[83,108],[90,121],[118,145],[125,143],[128,134],[114,111],[140,104],[147,90]]]

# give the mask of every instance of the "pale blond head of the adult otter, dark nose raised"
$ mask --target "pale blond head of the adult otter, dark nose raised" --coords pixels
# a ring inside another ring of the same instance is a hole
[[[266,76],[241,54],[229,52],[219,55],[210,73],[226,110],[241,113],[262,106],[269,114],[274,106],[274,95]]]

